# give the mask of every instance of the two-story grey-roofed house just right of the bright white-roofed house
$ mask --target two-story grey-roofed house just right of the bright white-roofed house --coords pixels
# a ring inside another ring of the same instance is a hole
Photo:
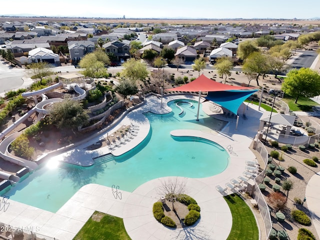
[[[68,49],[70,53],[70,59],[73,63],[78,62],[82,57],[89,52],[95,50],[94,42],[92,41],[68,41]]]

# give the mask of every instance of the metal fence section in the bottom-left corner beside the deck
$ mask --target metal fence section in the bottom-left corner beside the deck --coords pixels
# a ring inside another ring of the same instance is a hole
[[[0,222],[0,238],[2,239],[58,240],[57,238],[37,233],[39,230],[39,226],[11,226]]]

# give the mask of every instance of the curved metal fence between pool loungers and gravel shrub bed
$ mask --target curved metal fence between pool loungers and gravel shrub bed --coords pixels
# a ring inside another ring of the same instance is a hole
[[[255,150],[260,154],[260,156],[263,159],[264,162],[264,169],[260,174],[258,174],[255,179],[254,179],[254,191],[252,193],[252,197],[256,201],[259,211],[261,213],[263,222],[264,222],[264,227],[265,227],[265,235],[266,239],[268,239],[270,231],[272,229],[272,221],[271,221],[271,216],[270,216],[270,211],[269,207],[266,204],[266,201],[263,198],[263,194],[261,193],[258,184],[262,182],[263,177],[264,177],[264,172],[267,166],[268,162],[268,152],[265,149],[263,143],[260,140],[256,140],[256,145],[255,145]]]

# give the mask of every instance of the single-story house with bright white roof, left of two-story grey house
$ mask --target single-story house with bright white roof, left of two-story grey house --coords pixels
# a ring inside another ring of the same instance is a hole
[[[50,49],[42,47],[37,47],[29,51],[27,58],[28,63],[44,61],[50,64],[59,64],[59,55],[53,53],[53,51]]]

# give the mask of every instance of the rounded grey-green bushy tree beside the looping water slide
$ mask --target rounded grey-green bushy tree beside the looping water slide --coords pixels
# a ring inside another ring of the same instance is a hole
[[[71,99],[63,99],[55,102],[50,110],[49,118],[51,122],[59,129],[76,129],[88,122],[89,115],[83,109],[82,104]]]

